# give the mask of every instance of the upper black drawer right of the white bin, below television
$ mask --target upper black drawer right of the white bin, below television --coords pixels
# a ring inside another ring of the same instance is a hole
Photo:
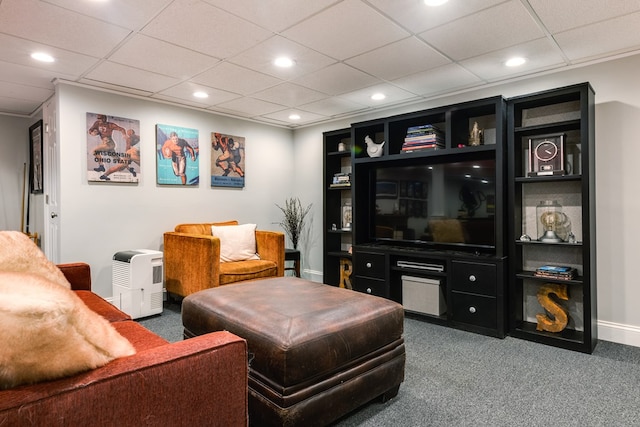
[[[496,266],[477,262],[451,261],[451,289],[481,295],[496,295]]]

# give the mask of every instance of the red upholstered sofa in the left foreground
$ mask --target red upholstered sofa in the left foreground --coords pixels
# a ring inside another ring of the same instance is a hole
[[[91,292],[88,264],[59,267],[137,353],[71,377],[0,390],[0,425],[247,425],[245,340],[214,332],[169,343]]]

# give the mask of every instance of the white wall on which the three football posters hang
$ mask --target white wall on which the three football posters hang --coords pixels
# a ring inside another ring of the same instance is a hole
[[[192,109],[127,98],[72,85],[58,88],[61,262],[91,265],[94,290],[110,297],[111,259],[127,249],[162,249],[162,234],[181,222],[237,219],[282,231],[280,210],[290,196],[292,132]],[[140,120],[141,182],[89,183],[86,113]],[[199,187],[156,185],[156,124],[199,130]],[[211,188],[211,132],[246,138],[243,189]],[[185,260],[188,262],[188,260]]]

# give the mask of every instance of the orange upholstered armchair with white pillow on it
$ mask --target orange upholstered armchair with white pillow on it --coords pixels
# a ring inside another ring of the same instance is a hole
[[[212,226],[218,230],[220,237],[213,235]],[[179,224],[175,231],[164,233],[167,292],[185,297],[229,283],[284,276],[283,233],[255,230],[253,259],[235,260],[233,256],[229,258],[229,254],[225,254],[231,244],[241,240],[232,234],[234,230],[241,230],[245,226],[249,224],[239,225],[238,221]],[[224,245],[221,245],[221,239]]]

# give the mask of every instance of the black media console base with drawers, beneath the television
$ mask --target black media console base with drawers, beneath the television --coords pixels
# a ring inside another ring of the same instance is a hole
[[[403,281],[433,279],[444,300],[442,314],[411,311],[434,323],[504,338],[506,333],[504,257],[464,251],[437,251],[397,245],[353,247],[353,286],[360,292],[389,298],[405,306],[420,298],[415,287],[405,295]],[[405,283],[406,284],[406,283]],[[416,286],[422,285],[417,282]],[[432,293],[433,294],[433,293]]]

